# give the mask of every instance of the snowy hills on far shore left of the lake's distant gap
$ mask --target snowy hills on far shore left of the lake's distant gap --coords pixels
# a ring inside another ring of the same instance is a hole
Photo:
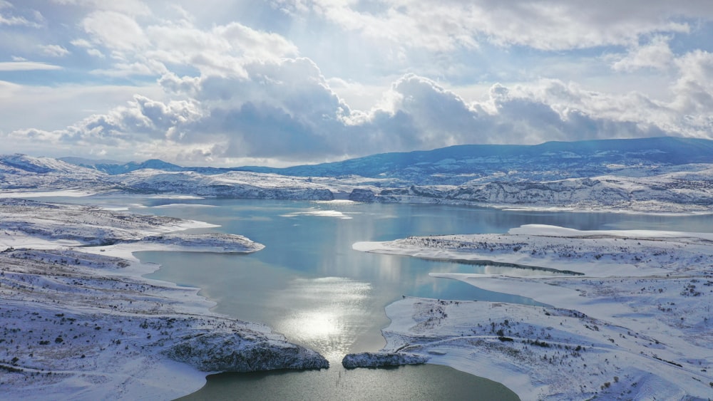
[[[73,190],[86,194],[101,192],[192,194],[201,197],[250,199],[334,199],[344,197],[359,178],[335,180],[287,177],[255,172],[225,172],[204,175],[143,168],[122,175],[71,165],[49,157],[0,156],[0,197],[32,196],[40,192]],[[376,181],[376,180],[371,180]]]

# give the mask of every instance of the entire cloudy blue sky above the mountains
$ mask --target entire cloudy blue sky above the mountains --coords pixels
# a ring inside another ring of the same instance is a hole
[[[0,0],[0,154],[287,165],[713,137],[709,0]]]

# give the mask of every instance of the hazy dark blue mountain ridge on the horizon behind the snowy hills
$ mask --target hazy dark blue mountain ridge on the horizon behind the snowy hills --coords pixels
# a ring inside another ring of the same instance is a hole
[[[473,180],[565,179],[617,174],[632,167],[654,175],[661,167],[713,163],[713,141],[697,138],[654,137],[625,140],[545,142],[540,145],[458,145],[436,150],[394,152],[342,162],[294,167],[181,167],[162,160],[115,164],[75,157],[68,163],[109,175],[142,169],[200,172],[264,172],[293,177],[343,177],[399,179],[411,184],[464,184]]]

